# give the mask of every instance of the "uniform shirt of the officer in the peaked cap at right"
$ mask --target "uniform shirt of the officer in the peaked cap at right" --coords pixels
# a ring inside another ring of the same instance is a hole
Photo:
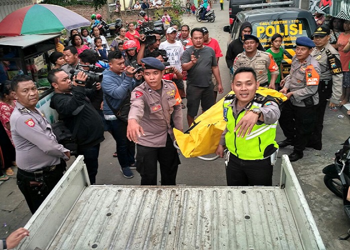
[[[330,80],[332,79],[332,95],[329,99],[330,102],[334,104],[340,103],[340,96],[342,91],[342,73],[332,74],[328,66],[328,56],[326,50],[329,50],[335,57],[340,60],[340,55],[332,45],[327,43],[322,49],[317,49],[316,47],[312,50],[311,56],[318,61],[321,74],[319,75],[320,80]],[[340,65],[341,67],[341,65]]]

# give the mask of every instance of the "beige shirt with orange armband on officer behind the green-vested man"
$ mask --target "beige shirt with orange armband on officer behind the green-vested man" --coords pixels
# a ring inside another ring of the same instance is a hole
[[[278,65],[272,55],[260,50],[256,50],[256,54],[251,59],[245,54],[245,51],[238,54],[233,61],[233,72],[239,67],[252,67],[255,70],[256,78],[260,85],[269,83],[268,71],[271,74],[279,74]]]

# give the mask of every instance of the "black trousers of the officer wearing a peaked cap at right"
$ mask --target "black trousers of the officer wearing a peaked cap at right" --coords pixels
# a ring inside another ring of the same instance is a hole
[[[316,105],[316,121],[313,128],[312,135],[310,136],[307,146],[315,146],[318,148],[322,147],[322,129],[323,129],[323,118],[327,101],[332,94],[332,80],[320,80],[318,84],[318,98],[319,102]]]

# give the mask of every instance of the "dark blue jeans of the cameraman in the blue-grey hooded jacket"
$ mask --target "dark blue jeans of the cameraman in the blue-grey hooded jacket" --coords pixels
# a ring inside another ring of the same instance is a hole
[[[116,141],[116,153],[121,167],[135,163],[135,143],[126,137],[127,123],[121,120],[106,120]]]

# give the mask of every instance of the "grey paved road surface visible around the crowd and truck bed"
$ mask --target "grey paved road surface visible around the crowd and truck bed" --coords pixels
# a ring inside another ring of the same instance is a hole
[[[209,35],[219,41],[225,54],[228,34],[222,31],[222,26],[228,22],[228,1],[224,1],[224,11],[219,10],[218,3],[213,6],[216,13],[216,19],[213,23],[198,23],[194,16],[183,16],[183,21],[189,24],[190,27],[206,26]],[[224,93],[227,93],[230,88],[229,74],[223,58],[219,61],[219,67]],[[222,97],[222,95],[219,97]],[[323,149],[321,151],[308,149],[304,152],[302,159],[292,163],[327,249],[350,249],[350,240],[337,240],[339,234],[345,233],[350,228],[350,220],[344,215],[342,201],[335,197],[323,184],[323,174],[321,172],[323,166],[333,161],[334,151],[349,135],[347,132],[350,131],[349,120],[347,118],[337,118],[339,113],[340,111],[330,111],[328,109],[325,112]],[[186,109],[183,110],[183,117],[185,115]],[[184,126],[187,127],[185,120]],[[132,179],[126,179],[121,175],[120,166],[117,160],[112,157],[112,153],[115,151],[115,143],[108,133],[105,133],[105,137],[106,140],[101,144],[97,184],[139,184],[140,177],[136,171],[134,171],[135,176]],[[283,138],[281,130],[278,128],[277,140]],[[291,151],[291,147],[279,151],[278,161],[276,167],[274,167],[274,185],[279,182],[280,169],[278,165],[281,161],[280,157],[282,154],[289,154]],[[197,158],[186,159],[182,155],[180,158],[182,164],[178,169],[177,184],[226,184],[222,159],[207,162]],[[160,179],[160,176],[158,179]],[[0,237],[4,237],[16,227],[23,226],[31,214],[15,184],[15,177],[0,185],[0,200]]]

